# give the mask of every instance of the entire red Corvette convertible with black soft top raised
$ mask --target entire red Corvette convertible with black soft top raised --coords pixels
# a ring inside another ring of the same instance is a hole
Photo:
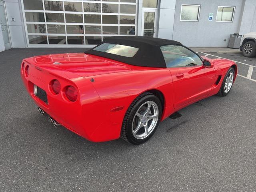
[[[26,58],[24,85],[42,114],[94,142],[141,144],[160,121],[198,100],[226,96],[237,66],[180,42],[139,36],[106,38],[85,53]]]

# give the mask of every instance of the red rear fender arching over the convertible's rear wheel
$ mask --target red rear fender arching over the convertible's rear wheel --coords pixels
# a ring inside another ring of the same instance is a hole
[[[101,99],[102,124],[95,130],[92,138],[104,135],[108,140],[120,137],[124,115],[133,100],[147,90],[159,90],[164,95],[163,117],[171,113],[172,78],[169,70],[134,70],[92,77],[94,88]],[[143,78],[143,79],[142,79]],[[118,111],[112,111],[120,107]],[[121,109],[122,108],[122,109]],[[168,108],[168,111],[166,109]],[[104,118],[104,119],[103,119]]]

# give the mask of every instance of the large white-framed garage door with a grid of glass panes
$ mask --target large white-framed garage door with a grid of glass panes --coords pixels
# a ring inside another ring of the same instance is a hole
[[[135,35],[137,0],[23,0],[29,47],[79,47]]]

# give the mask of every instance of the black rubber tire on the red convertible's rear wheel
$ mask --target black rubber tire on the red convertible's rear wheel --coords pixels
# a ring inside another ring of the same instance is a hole
[[[156,122],[156,125],[154,126],[154,129],[152,129],[152,131],[148,134],[148,136],[146,136],[146,138],[138,139],[133,135],[133,131],[132,131],[134,130],[133,120],[136,116],[137,110],[139,110],[145,102],[149,102],[149,101],[153,101],[158,107],[158,118],[156,118],[157,122]],[[121,138],[126,142],[134,145],[139,145],[146,142],[156,131],[161,117],[162,117],[162,104],[159,98],[150,92],[145,92],[141,94],[132,102],[132,104],[129,106],[128,110],[126,111],[126,114],[124,116],[124,120],[122,123]]]

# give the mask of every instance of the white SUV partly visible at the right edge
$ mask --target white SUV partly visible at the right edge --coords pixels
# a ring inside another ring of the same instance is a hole
[[[245,57],[256,56],[256,32],[250,32],[242,36],[240,51]]]

